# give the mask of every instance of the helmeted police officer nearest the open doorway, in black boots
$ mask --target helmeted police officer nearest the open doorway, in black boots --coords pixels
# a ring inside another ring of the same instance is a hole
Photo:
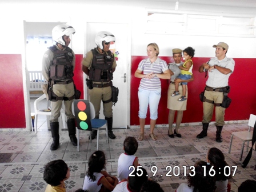
[[[53,28],[53,40],[55,45],[43,55],[42,74],[48,81],[52,93],[49,93],[51,101],[50,127],[53,143],[51,150],[57,150],[59,146],[59,122],[62,102],[65,105],[65,114],[67,116],[67,130],[69,131],[70,141],[77,146],[77,137],[75,137],[75,117],[72,113],[71,106],[75,94],[74,91],[74,68],[75,54],[70,49],[70,35],[75,33],[72,26],[61,24]]]

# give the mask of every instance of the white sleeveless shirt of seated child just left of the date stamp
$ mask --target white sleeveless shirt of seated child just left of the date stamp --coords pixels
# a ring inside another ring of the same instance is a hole
[[[129,170],[129,167],[131,165],[134,165],[134,161],[137,159],[135,155],[127,155],[126,153],[122,153],[118,158],[118,166],[117,166],[117,172],[118,172],[118,181],[120,182],[122,179],[128,179],[129,174],[131,173],[131,170]]]

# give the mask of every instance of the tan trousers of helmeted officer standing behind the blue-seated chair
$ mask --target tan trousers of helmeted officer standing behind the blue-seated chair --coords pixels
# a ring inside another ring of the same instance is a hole
[[[93,103],[95,108],[95,118],[99,118],[99,110],[101,110],[101,101],[107,101],[112,97],[111,86],[109,87],[93,87],[89,89],[90,102]],[[110,118],[113,116],[112,111],[113,102],[103,103],[103,114],[105,117]]]

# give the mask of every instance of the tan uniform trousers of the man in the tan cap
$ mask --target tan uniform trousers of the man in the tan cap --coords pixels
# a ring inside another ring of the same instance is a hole
[[[223,92],[215,92],[215,91],[206,91],[205,90],[205,97],[214,103],[222,103],[223,101]],[[213,109],[214,104],[203,102],[203,121],[202,123],[210,123],[211,118],[213,118]],[[223,126],[225,125],[224,122],[224,115],[225,115],[225,108],[219,106],[215,107],[215,125]]]

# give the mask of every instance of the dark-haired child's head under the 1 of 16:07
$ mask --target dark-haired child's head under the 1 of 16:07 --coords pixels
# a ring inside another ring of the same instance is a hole
[[[205,161],[198,161],[194,165],[195,169],[195,175],[192,177],[187,177],[187,183],[188,186],[194,187],[193,192],[199,191],[199,192],[213,192],[216,189],[215,186],[215,177],[212,177],[209,172],[211,169],[211,165],[208,165]],[[191,171],[191,174],[194,174],[193,171]]]

